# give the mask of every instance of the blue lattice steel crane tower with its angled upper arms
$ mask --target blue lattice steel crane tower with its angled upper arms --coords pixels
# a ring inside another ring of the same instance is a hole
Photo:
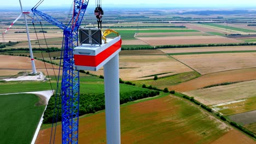
[[[39,16],[45,21],[63,29],[63,71],[61,82],[62,143],[78,143],[79,72],[75,70],[73,49],[78,46],[78,29],[89,0],[73,1],[73,16],[67,26],[54,17],[38,11],[37,7],[42,2],[38,2],[32,8],[34,16]]]

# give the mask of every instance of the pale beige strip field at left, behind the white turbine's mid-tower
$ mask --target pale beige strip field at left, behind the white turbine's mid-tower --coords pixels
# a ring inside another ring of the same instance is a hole
[[[38,39],[44,39],[43,33],[37,33]],[[63,37],[63,33],[45,33],[46,38]],[[37,40],[36,33],[30,33],[31,40]],[[9,33],[4,35],[5,41],[27,41],[26,33]],[[3,39],[0,39],[3,42]]]

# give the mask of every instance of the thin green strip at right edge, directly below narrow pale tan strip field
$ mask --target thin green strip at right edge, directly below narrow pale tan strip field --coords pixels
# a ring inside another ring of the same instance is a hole
[[[180,52],[180,53],[168,53],[168,55],[177,56],[177,55],[200,55],[200,54],[214,54],[214,53],[245,53],[245,52],[256,52],[256,51],[255,50],[248,50],[248,51]]]

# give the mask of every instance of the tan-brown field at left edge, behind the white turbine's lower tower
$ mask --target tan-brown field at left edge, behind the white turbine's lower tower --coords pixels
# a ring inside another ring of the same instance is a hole
[[[28,57],[19,57],[19,56],[4,56],[0,55],[0,76],[11,76],[16,75],[20,71],[32,71],[31,61]],[[46,73],[44,62],[34,60],[36,64],[37,71],[42,71],[44,74]],[[51,64],[46,63],[46,68],[48,68],[49,75],[58,74],[59,66],[54,65],[54,70]],[[62,72],[61,72],[62,74]]]

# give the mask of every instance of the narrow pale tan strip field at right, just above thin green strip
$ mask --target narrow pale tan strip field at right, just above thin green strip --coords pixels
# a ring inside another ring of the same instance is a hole
[[[247,51],[256,50],[256,46],[214,46],[214,47],[193,47],[177,49],[160,49],[164,53],[182,53],[182,52],[207,52],[207,51]]]

